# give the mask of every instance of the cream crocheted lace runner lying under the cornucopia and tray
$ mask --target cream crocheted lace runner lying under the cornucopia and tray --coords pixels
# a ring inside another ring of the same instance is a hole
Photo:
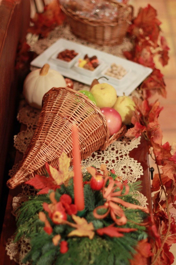
[[[95,44],[88,43],[77,39],[69,30],[69,27],[59,26],[55,28],[47,38],[41,39],[38,42],[34,42],[34,36],[28,37],[28,42],[30,43],[31,50],[37,54],[41,54],[46,48],[51,44],[57,41],[58,38],[65,38],[70,41],[75,41],[83,45],[89,45],[89,47],[108,52],[110,54],[123,57],[123,50],[130,50],[131,43],[127,38],[124,38],[124,41],[121,45],[114,47],[99,47]],[[31,70],[35,69],[31,67]],[[89,87],[83,83],[74,81],[74,89],[89,89]],[[137,93],[134,91],[133,93]],[[30,143],[30,140],[34,134],[35,128],[37,126],[38,118],[40,111],[34,109],[25,103],[25,100],[21,101],[21,107],[17,115],[17,120],[20,123],[26,125],[26,130],[20,131],[17,135],[14,136],[14,146],[21,153],[25,153],[25,150]],[[92,155],[86,160],[82,161],[82,166],[84,167],[83,172],[86,170],[87,166],[94,165],[99,169],[102,163],[106,163],[107,169],[114,169],[115,174],[122,176],[123,180],[128,180],[128,182],[135,182],[143,175],[143,169],[140,163],[129,156],[129,153],[134,148],[137,148],[140,144],[140,138],[135,140],[130,139],[119,139],[111,144],[105,151],[98,151],[92,153]],[[14,165],[12,170],[10,170],[9,175],[13,176],[18,169],[18,164]],[[137,192],[137,199],[140,202],[141,206],[147,206],[147,198],[140,192]],[[13,198],[13,211],[12,214],[16,216],[15,210],[21,205],[22,202],[28,199],[29,195],[35,194],[34,189],[24,185],[22,186],[22,192]],[[17,243],[13,242],[14,236],[8,239],[6,244],[7,255],[10,256],[10,259],[15,260],[19,264],[22,263],[22,259],[30,250],[30,242],[27,238],[21,238]]]

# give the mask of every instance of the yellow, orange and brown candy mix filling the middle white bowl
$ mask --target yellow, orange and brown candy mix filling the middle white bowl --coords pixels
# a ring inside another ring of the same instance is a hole
[[[84,56],[83,59],[79,59],[78,67],[85,68],[87,70],[95,70],[96,67],[99,65],[99,60],[96,55],[89,57],[87,54]]]

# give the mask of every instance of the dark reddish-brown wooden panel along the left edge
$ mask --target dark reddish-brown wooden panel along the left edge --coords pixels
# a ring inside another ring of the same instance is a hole
[[[2,0],[0,4],[0,196],[13,120],[18,101],[15,74],[19,42],[25,40],[30,21],[30,0]]]

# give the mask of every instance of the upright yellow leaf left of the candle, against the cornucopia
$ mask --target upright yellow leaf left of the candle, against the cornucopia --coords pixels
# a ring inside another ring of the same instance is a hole
[[[68,180],[73,177],[73,171],[69,170],[70,158],[67,154],[62,151],[58,159],[58,170],[49,165],[49,170],[52,178],[55,180],[57,185],[67,184]]]

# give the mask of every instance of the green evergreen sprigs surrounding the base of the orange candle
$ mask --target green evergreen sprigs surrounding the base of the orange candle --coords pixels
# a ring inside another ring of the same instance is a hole
[[[135,188],[140,188],[140,182],[135,183]],[[134,191],[130,184],[130,191]],[[62,194],[68,194],[74,200],[73,182],[70,180],[68,186],[61,185],[60,189],[55,191],[55,198],[59,201]],[[147,237],[145,227],[141,226],[143,218],[146,217],[141,210],[134,210],[123,207],[123,211],[128,222],[122,226],[127,228],[137,228],[137,231],[124,233],[123,237],[109,237],[107,235],[99,236],[96,229],[109,226],[113,223],[110,215],[104,219],[96,219],[93,210],[99,205],[105,203],[103,195],[99,191],[93,191],[89,184],[84,185],[85,209],[84,218],[88,223],[92,222],[95,235],[92,240],[88,237],[68,237],[68,233],[73,227],[67,224],[55,225],[48,218],[53,231],[48,235],[44,231],[44,222],[38,219],[39,211],[44,211],[43,202],[51,203],[49,194],[30,197],[18,209],[18,222],[15,240],[18,241],[22,235],[30,238],[31,250],[24,258],[23,262],[31,262],[33,265],[129,265],[129,259],[139,240]],[[139,204],[132,195],[121,196],[126,202]],[[103,214],[106,210],[99,210]],[[45,212],[48,216],[48,213]],[[68,215],[67,220],[73,222],[72,217]],[[68,251],[60,253],[60,243],[54,246],[52,238],[55,235],[61,235],[62,240],[68,243]]]

